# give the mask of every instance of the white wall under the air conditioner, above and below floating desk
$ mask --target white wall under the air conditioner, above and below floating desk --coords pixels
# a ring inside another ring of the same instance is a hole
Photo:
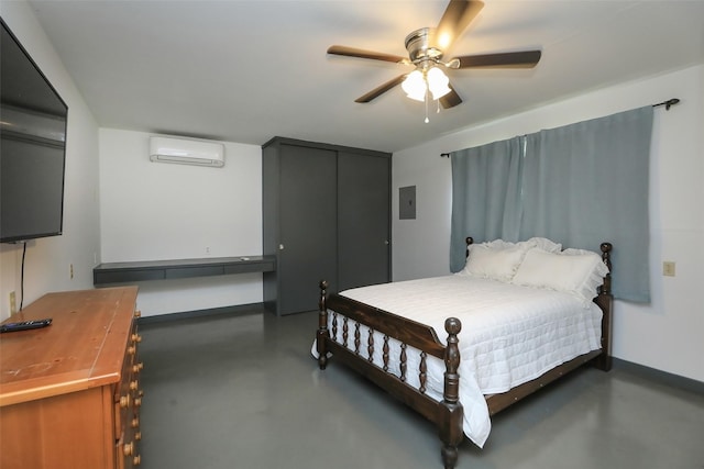
[[[226,165],[152,163],[153,134],[100,130],[102,263],[262,254],[262,149],[224,142]],[[144,316],[262,302],[262,275],[140,282]]]

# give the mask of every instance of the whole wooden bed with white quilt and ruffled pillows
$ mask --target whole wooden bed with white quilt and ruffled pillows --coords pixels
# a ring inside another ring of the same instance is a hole
[[[321,281],[312,348],[321,370],[343,362],[432,422],[446,468],[465,436],[484,445],[491,415],[587,362],[612,367],[609,243],[466,245],[451,276],[340,293]]]

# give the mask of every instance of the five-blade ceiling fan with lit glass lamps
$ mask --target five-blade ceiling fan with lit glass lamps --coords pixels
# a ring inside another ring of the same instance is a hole
[[[444,108],[453,108],[462,102],[458,92],[449,83],[443,69],[463,68],[532,68],[540,60],[540,51],[522,51],[497,54],[463,55],[443,62],[454,40],[469,26],[484,7],[479,0],[450,0],[438,27],[421,27],[406,36],[408,57],[333,45],[328,54],[372,60],[392,62],[414,66],[411,72],[399,75],[361,96],[355,102],[370,102],[386,91],[402,85],[409,98],[426,101],[431,96]],[[427,118],[426,118],[427,122]]]

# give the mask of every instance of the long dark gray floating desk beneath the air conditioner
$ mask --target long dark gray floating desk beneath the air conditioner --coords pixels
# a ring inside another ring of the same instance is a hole
[[[201,259],[107,263],[92,269],[92,283],[125,283],[145,280],[272,272],[275,256],[207,257]]]

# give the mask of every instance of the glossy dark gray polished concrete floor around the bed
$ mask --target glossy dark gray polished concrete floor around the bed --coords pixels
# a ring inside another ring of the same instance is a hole
[[[441,468],[435,427],[334,359],[316,313],[142,324],[144,469]],[[585,368],[493,418],[458,468],[703,469],[704,395]]]

